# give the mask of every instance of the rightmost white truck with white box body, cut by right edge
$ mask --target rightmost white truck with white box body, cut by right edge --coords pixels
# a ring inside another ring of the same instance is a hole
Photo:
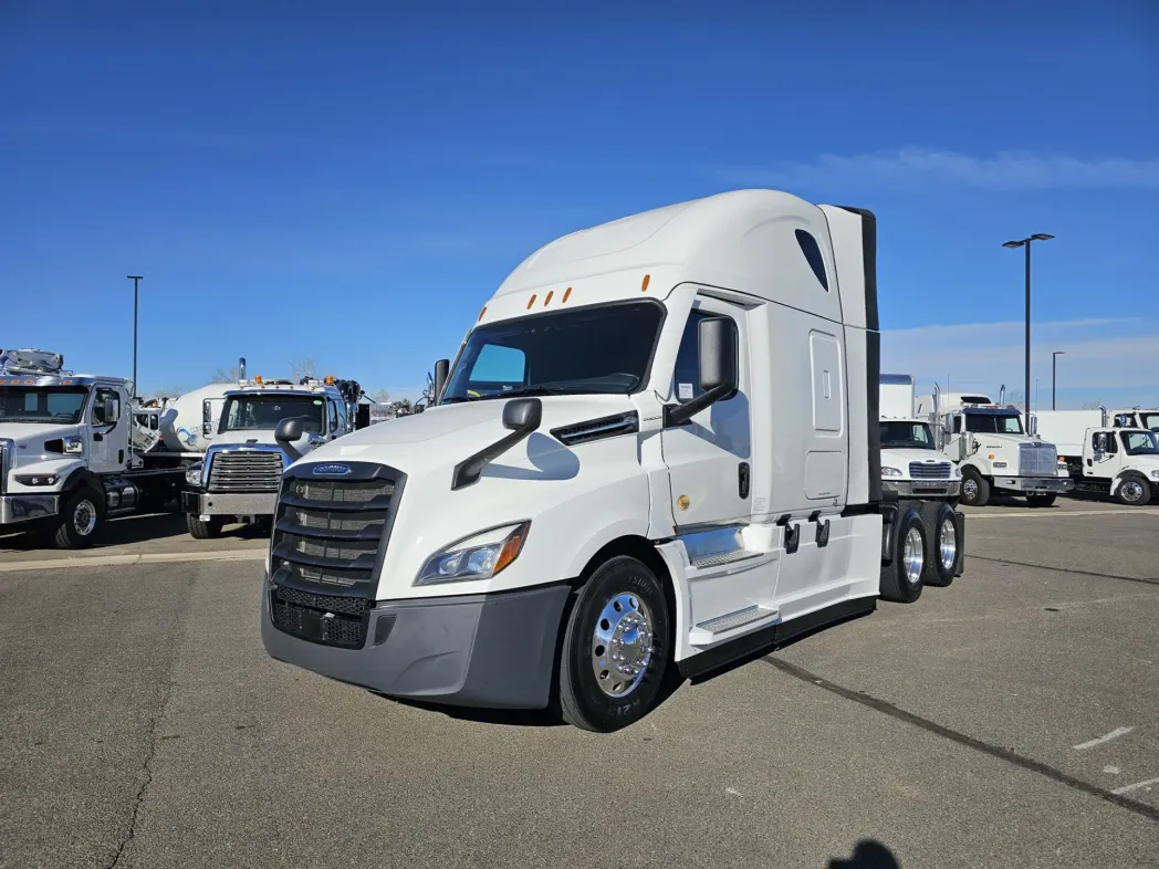
[[[1114,418],[1115,425],[1108,425]],[[1159,496],[1159,444],[1150,429],[1129,424],[1123,411],[1040,410],[1038,432],[1058,445],[1058,463],[1074,492],[1145,506]]]

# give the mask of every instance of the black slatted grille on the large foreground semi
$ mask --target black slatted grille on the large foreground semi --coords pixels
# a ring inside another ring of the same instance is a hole
[[[341,480],[314,466],[287,472],[270,541],[271,614],[279,630],[325,645],[360,648],[376,591],[376,567],[404,475],[350,462]]]

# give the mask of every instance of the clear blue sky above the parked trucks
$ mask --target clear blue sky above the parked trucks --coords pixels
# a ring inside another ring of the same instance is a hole
[[[1146,2],[327,6],[5,3],[0,346],[127,375],[139,273],[146,392],[414,394],[544,242],[774,187],[877,213],[885,368],[1020,388],[1047,232],[1040,402],[1159,402]]]

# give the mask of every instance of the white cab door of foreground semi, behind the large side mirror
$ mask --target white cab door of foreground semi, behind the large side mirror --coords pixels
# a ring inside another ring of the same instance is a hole
[[[673,520],[681,531],[744,521],[752,513],[749,341],[743,307],[697,297],[680,339],[670,399],[683,404],[701,394],[700,322],[712,316],[736,323],[738,386],[730,397],[705,408],[686,423],[666,424],[662,432]]]

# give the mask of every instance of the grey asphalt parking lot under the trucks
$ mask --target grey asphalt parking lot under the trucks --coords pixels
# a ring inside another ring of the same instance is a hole
[[[261,540],[121,521],[0,538],[2,867],[1159,866],[1159,509],[975,510],[952,587],[611,736],[278,664]]]

